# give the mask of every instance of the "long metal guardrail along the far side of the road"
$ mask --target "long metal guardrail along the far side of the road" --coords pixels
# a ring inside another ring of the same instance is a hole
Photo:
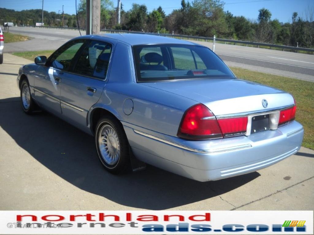
[[[70,27],[54,27],[54,26],[27,26],[27,27],[35,27],[35,28],[47,28],[47,29],[68,29],[68,30],[78,30],[78,28],[70,28]],[[85,29],[81,29],[85,30]],[[158,35],[158,36],[164,36],[164,37],[176,37],[180,39],[196,39],[198,40],[204,40],[205,42],[207,41],[213,41],[214,38],[210,37],[199,37],[199,36],[189,36],[189,35],[180,35],[180,34],[156,34],[156,33],[146,33],[146,32],[136,32],[136,31],[127,31],[127,30],[115,30],[115,29],[100,29],[100,32],[110,32],[110,33],[128,33],[128,34],[150,34],[150,35]],[[239,41],[239,40],[230,40],[230,39],[220,39],[216,38],[215,39],[218,42],[225,42],[226,43],[234,43],[234,44],[245,44],[247,45],[254,45],[259,48],[260,46],[266,46],[269,47],[270,49],[272,48],[279,48],[284,50],[292,50],[292,51],[307,51],[311,52],[313,54],[314,49],[311,48],[303,48],[303,47],[294,47],[294,46],[284,46],[284,45],[276,45],[276,44],[268,44],[268,43],[259,43],[259,42],[248,42],[248,41]]]

